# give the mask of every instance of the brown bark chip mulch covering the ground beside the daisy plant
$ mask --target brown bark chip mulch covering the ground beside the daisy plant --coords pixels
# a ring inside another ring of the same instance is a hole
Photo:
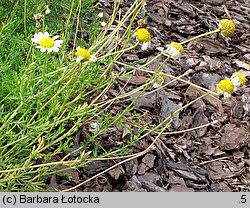
[[[111,15],[112,2],[100,1],[100,11],[104,12],[106,18]],[[132,3],[133,1],[124,0],[121,5],[122,13],[125,13]],[[124,54],[120,61],[130,63],[140,58],[150,60],[159,53],[156,47],[166,47],[170,41],[181,42],[212,31],[218,27],[220,19],[227,18],[236,24],[232,37],[224,38],[220,34],[214,34],[190,42],[184,46],[185,53],[180,60],[168,61],[163,71],[180,76],[191,69],[185,79],[210,90],[215,90],[221,79],[229,78],[235,71],[242,71],[248,76],[249,5],[249,0],[148,1],[145,7],[148,16],[146,25],[151,32],[151,48],[142,52],[138,47],[137,50]],[[139,15],[137,20],[141,18]],[[135,23],[134,29],[137,26]],[[161,58],[154,62],[148,70],[156,69],[163,60]],[[121,66],[117,65],[114,70],[119,73]],[[144,84],[148,76],[138,72],[127,82],[124,90],[128,92]],[[106,96],[115,97],[125,82],[126,80],[120,80]],[[197,97],[197,90],[187,84],[174,82],[154,94],[142,96],[137,100],[135,111],[141,114],[148,112],[147,116],[141,117],[142,121],[159,123],[169,113]],[[109,108],[113,114],[121,109],[124,109],[121,103],[114,103]],[[181,131],[208,123],[211,124],[193,131],[162,134],[155,143],[154,150],[96,177],[75,191],[250,191],[249,80],[229,99],[207,96],[197,101],[176,115],[172,126],[166,132]],[[86,132],[89,132],[89,127],[83,125],[76,134],[78,141],[86,136]],[[121,142],[121,139],[129,139],[132,136],[133,132],[114,126],[112,132],[101,136],[101,144],[103,148],[108,149]],[[133,152],[145,150],[153,138],[154,135],[148,135],[139,141],[132,148]],[[60,157],[54,158],[54,161],[59,160]],[[119,161],[121,160],[116,163]],[[53,175],[47,183],[55,190],[70,188],[116,163],[95,161],[84,169],[68,171],[72,176],[70,182],[64,177]],[[64,169],[63,166],[60,168]]]

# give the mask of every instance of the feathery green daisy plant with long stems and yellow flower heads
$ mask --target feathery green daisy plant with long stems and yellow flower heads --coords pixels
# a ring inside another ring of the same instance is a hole
[[[179,118],[190,106],[205,100],[221,111],[222,101],[245,88],[246,73],[239,70],[215,79],[212,87],[190,81],[192,69],[177,76],[165,70],[182,59],[191,42],[213,35],[230,41],[237,30],[230,18],[154,47],[146,1],[132,1],[124,11],[113,1],[108,17],[101,5],[95,0],[0,3],[1,191],[82,191],[107,172],[118,179],[124,174],[119,167],[157,151],[164,135],[207,131],[219,123],[202,114],[206,122],[180,129]],[[139,58],[131,55],[135,51]],[[183,86],[186,97],[179,98],[175,90]],[[184,101],[176,104],[168,97]],[[150,100],[158,98],[164,109],[153,117],[157,103]],[[105,168],[87,168],[100,161]]]

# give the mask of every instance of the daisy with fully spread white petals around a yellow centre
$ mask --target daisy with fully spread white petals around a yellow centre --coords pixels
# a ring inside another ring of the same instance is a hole
[[[49,37],[49,33],[39,32],[34,35],[34,38],[31,38],[32,42],[38,44],[36,48],[39,48],[41,52],[58,52],[63,40],[56,40],[59,38],[59,35],[54,36],[53,38]]]

